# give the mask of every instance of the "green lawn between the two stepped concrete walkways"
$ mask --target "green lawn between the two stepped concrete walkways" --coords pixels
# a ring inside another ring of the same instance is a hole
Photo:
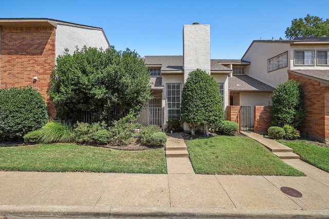
[[[198,174],[305,176],[248,137],[214,136],[186,144]]]

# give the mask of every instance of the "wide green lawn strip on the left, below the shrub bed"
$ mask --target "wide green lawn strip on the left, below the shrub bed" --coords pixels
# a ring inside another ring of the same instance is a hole
[[[165,150],[124,151],[77,144],[0,147],[0,170],[167,173]]]

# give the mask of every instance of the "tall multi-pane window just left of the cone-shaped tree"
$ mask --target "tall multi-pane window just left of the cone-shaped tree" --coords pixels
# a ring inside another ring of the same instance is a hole
[[[180,84],[167,84],[168,118],[180,119]]]

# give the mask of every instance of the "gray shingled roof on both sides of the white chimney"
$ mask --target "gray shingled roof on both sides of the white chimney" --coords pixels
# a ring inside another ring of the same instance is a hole
[[[142,58],[146,65],[161,66],[161,71],[182,71],[183,56],[181,55],[157,55],[144,56]],[[239,61],[240,62],[240,61]],[[218,62],[218,59],[211,59],[210,68],[212,71],[232,71]]]

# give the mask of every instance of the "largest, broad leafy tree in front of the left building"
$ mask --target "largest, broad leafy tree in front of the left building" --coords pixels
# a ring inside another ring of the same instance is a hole
[[[81,110],[111,124],[137,112],[150,99],[149,73],[135,51],[83,47],[57,58],[49,95],[62,120],[76,122]]]

